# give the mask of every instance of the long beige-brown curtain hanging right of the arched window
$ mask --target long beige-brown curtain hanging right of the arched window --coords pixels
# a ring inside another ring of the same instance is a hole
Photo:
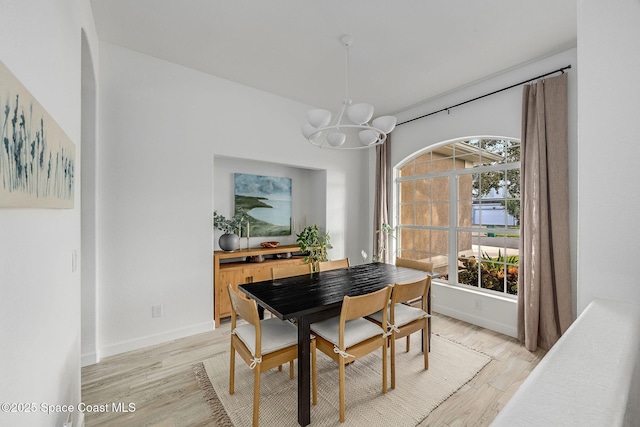
[[[530,351],[573,321],[567,127],[566,74],[524,86],[518,338]]]

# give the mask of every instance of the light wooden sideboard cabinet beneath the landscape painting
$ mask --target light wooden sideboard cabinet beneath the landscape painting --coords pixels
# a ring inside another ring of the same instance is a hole
[[[276,254],[300,251],[298,245],[278,246],[277,248],[250,248],[234,252],[215,251],[213,253],[213,316],[216,328],[220,319],[231,316],[231,302],[227,285],[238,287],[244,283],[261,282],[271,279],[271,267],[303,264],[303,256],[275,258]],[[264,256],[262,262],[246,262],[248,256]]]

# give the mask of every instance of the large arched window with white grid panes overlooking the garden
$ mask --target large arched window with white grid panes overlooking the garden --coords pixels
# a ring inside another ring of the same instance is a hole
[[[433,262],[436,281],[517,295],[519,139],[460,138],[416,153],[396,168],[395,208],[398,256]]]

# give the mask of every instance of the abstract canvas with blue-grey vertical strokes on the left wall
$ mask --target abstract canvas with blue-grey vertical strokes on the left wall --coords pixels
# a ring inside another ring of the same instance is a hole
[[[0,208],[73,208],[75,145],[0,62]]]

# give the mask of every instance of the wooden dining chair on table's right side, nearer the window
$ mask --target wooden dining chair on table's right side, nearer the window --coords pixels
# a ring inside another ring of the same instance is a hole
[[[431,276],[414,282],[396,283],[391,291],[391,304],[388,310],[380,310],[367,318],[376,324],[384,325],[384,314],[388,311],[389,329],[391,332],[391,388],[396,388],[396,340],[407,338],[409,351],[410,335],[422,331],[422,352],[424,353],[424,369],[429,369],[428,332],[430,315],[427,313],[427,295],[431,285]],[[409,305],[410,301],[420,301],[420,307]]]

